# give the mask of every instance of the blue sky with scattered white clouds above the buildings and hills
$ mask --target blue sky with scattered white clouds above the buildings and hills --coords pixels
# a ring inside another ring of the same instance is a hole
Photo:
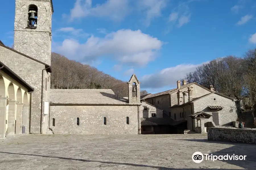
[[[204,62],[256,47],[254,0],[53,0],[52,51],[150,93]],[[13,44],[15,0],[0,6],[0,40]]]

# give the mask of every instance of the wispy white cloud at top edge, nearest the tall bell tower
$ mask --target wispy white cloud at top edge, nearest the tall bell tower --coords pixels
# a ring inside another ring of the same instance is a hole
[[[105,3],[95,6],[92,6],[92,0],[76,0],[74,8],[70,11],[70,20],[94,16],[118,21],[128,13],[128,0],[107,0]]]

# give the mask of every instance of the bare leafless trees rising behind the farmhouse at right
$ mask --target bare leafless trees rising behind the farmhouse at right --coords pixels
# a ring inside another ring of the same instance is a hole
[[[248,105],[256,104],[256,48],[245,52],[243,57],[226,56],[217,58],[187,73],[181,80],[197,82],[230,97],[246,97]]]

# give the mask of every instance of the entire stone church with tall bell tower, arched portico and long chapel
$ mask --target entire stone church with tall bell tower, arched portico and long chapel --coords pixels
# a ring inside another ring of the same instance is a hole
[[[14,48],[0,41],[0,137],[33,134],[140,134],[140,82],[112,90],[50,89],[51,0],[16,0]]]

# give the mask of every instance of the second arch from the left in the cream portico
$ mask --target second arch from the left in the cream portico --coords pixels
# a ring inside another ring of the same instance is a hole
[[[15,110],[16,110],[16,101],[15,101],[15,91],[14,85],[11,82],[7,88],[7,97],[8,101],[8,121],[7,121],[7,135],[15,134]]]

